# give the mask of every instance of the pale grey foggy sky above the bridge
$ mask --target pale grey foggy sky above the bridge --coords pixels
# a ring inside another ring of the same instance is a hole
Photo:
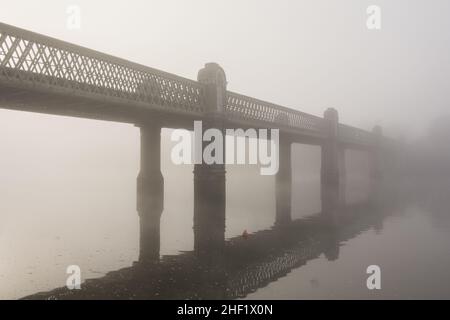
[[[342,122],[415,134],[447,111],[449,1],[0,1],[0,21],[195,78],[205,62],[233,91]],[[66,28],[66,8],[82,29]],[[379,5],[382,29],[366,28]]]

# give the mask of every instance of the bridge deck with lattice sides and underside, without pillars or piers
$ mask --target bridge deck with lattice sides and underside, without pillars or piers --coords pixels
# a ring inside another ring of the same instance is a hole
[[[0,23],[0,107],[136,123],[157,117],[189,127],[205,111],[201,83]],[[230,126],[280,128],[312,143],[324,120],[228,92]],[[370,132],[340,125],[342,143],[369,146]]]

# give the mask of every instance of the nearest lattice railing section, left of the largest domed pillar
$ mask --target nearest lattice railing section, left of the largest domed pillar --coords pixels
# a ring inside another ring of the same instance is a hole
[[[204,105],[195,81],[1,23],[0,77],[186,111]]]

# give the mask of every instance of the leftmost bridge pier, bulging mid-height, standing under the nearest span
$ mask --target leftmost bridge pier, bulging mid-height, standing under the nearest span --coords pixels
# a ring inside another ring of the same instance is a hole
[[[160,220],[164,209],[164,178],[161,173],[161,126],[139,125],[141,168],[137,178],[137,211],[140,224],[139,262],[159,260]]]

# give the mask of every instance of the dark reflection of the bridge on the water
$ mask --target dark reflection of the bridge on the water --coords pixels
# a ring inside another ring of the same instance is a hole
[[[81,290],[66,288],[38,293],[25,299],[236,299],[262,288],[322,254],[339,257],[343,242],[373,228],[398,203],[364,204],[336,209],[339,219],[326,212],[270,230],[235,237],[213,255],[196,251],[163,256],[158,262],[134,263],[87,280]]]

